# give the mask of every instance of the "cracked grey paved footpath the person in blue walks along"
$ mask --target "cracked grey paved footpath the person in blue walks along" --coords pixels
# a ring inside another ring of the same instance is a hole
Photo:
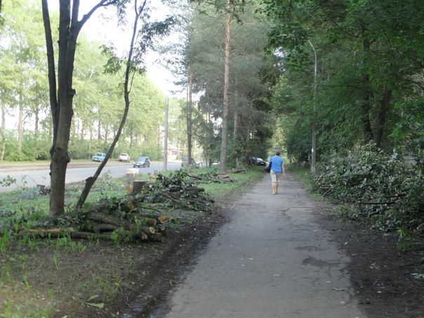
[[[270,175],[232,206],[173,292],[166,318],[364,318],[340,242],[314,223],[314,201],[293,174],[272,195]],[[159,317],[159,316],[155,316]]]

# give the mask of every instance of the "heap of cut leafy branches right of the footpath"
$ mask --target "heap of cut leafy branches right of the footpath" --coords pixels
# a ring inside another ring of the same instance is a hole
[[[333,156],[311,175],[314,190],[359,207],[357,218],[373,220],[380,230],[424,231],[424,175],[420,165],[373,145]]]

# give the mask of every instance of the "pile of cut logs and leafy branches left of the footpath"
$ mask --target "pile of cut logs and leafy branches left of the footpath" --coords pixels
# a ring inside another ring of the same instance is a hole
[[[16,234],[21,237],[162,241],[169,218],[161,211],[173,208],[210,211],[213,200],[203,188],[194,185],[196,179],[194,175],[175,173],[171,177],[155,175],[154,183],[134,180],[127,186],[127,196],[106,199],[91,211],[75,212],[74,217],[71,216],[75,222],[67,227],[58,227],[58,224],[69,222],[51,218],[47,222],[49,226],[20,228]]]

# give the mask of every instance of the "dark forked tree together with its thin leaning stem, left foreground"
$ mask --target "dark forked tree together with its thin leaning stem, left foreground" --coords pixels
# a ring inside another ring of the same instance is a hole
[[[129,92],[131,90],[131,74],[138,68],[137,65],[143,62],[143,55],[149,45],[152,44],[152,39],[157,34],[163,34],[171,24],[171,20],[165,23],[152,23],[145,24],[143,32],[137,29],[138,18],[145,12],[147,1],[142,1],[138,6],[138,1],[134,2],[133,8],[135,13],[135,21],[133,25],[133,37],[131,40],[128,58],[126,59],[126,71],[124,77],[124,100],[125,109],[124,114],[114,138],[110,150],[107,152],[105,161],[100,164],[98,171],[95,175],[86,180],[86,187],[83,194],[77,203],[77,208],[84,204],[85,198],[91,189],[91,185],[100,174],[103,166],[105,166],[107,159],[112,154],[114,145],[116,145],[122,128],[124,127],[126,114],[128,114],[128,107],[130,104]],[[51,21],[48,12],[48,4],[46,0],[42,0],[43,20],[46,33],[46,50],[48,60],[48,81],[50,87],[50,104],[51,114],[53,119],[53,145],[51,147],[51,197],[50,197],[50,213],[52,215],[60,215],[64,213],[64,198],[65,198],[65,173],[67,164],[70,161],[68,153],[69,136],[71,131],[72,117],[74,114],[73,99],[75,90],[73,83],[74,60],[77,51],[77,39],[81,28],[86,21],[91,18],[93,13],[99,8],[107,8],[110,6],[116,7],[120,18],[124,18],[126,14],[126,0],[99,0],[98,4],[93,6],[88,13],[86,13],[81,20],[79,20],[79,0],[73,0],[72,6],[70,0],[59,1],[59,40],[58,40],[58,80],[55,79],[55,60],[54,60],[54,46],[53,37],[51,34]],[[140,43],[135,50],[135,36],[140,35]],[[112,59],[114,66],[117,64],[117,59]]]

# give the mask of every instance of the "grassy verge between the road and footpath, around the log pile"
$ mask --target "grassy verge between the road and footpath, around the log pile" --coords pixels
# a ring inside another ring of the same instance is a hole
[[[147,181],[161,185],[154,180],[160,174],[136,175],[136,181]],[[192,177],[190,177],[191,175]],[[164,223],[166,237],[163,241],[126,241],[118,228],[112,239],[72,239],[67,232],[57,237],[39,233],[18,235],[18,229],[32,227],[64,228],[81,225],[72,211],[66,217],[48,217],[48,196],[40,194],[37,188],[25,188],[0,194],[0,317],[74,317],[73,315],[110,314],[117,298],[126,296],[144,284],[150,267],[158,266],[169,253],[169,242],[178,240],[179,232],[185,227],[200,227],[203,223],[219,219],[220,208],[231,197],[248,189],[263,176],[263,168],[253,167],[239,173],[228,173],[220,180],[216,169],[185,168],[181,171],[164,173],[166,180],[177,178],[191,188],[204,189],[205,197],[212,201],[210,206],[175,205],[175,200],[166,201],[168,190],[151,188],[152,201],[143,202],[138,211],[146,215],[163,214],[168,217]],[[67,206],[74,206],[79,191],[84,185],[67,185]],[[183,190],[185,191],[185,190]],[[169,194],[169,192],[168,192]],[[158,200],[154,200],[156,197]],[[126,178],[102,177],[91,192],[84,211],[95,210],[98,206],[135,201],[128,194]],[[135,211],[135,209],[134,209]],[[104,211],[107,215],[109,211]],[[124,218],[124,213],[121,211]],[[81,214],[78,216],[82,218]],[[52,224],[55,223],[55,224]],[[194,232],[193,237],[196,236]],[[183,242],[179,242],[183,244]],[[122,303],[121,303],[122,305]]]

